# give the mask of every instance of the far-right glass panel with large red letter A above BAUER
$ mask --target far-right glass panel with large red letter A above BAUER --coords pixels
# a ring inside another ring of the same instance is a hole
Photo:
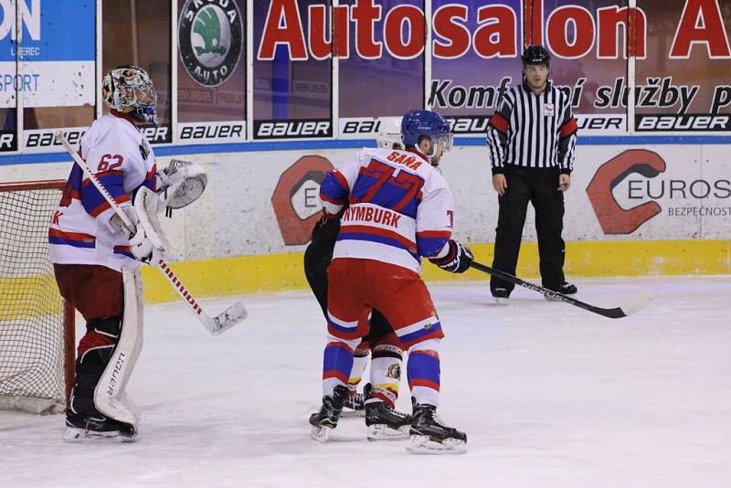
[[[648,21],[636,65],[638,132],[731,131],[729,2],[637,2]],[[652,20],[652,21],[651,21]]]

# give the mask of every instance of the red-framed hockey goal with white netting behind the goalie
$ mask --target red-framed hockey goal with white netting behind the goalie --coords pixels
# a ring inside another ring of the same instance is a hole
[[[67,405],[74,309],[48,258],[48,224],[65,185],[0,183],[0,408],[49,413]]]

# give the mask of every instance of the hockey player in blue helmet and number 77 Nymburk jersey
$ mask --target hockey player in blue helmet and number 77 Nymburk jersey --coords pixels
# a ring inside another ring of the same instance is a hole
[[[320,186],[326,216],[345,208],[328,268],[328,336],[323,357],[323,407],[313,414],[315,440],[327,440],[347,396],[355,346],[372,309],[383,313],[408,349],[414,403],[409,451],[461,452],[467,436],[436,417],[440,339],[421,258],[466,271],[471,252],[451,239],[454,203],[434,166],[451,147],[447,121],[434,111],[408,111],[401,121],[406,151],[364,149]]]

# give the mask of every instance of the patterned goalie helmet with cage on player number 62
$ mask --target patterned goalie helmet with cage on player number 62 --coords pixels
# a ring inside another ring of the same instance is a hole
[[[104,75],[101,97],[115,111],[130,115],[140,122],[156,123],[154,91],[150,75],[136,66],[119,66]]]

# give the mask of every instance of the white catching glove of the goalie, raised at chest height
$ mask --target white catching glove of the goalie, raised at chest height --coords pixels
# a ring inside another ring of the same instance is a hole
[[[203,194],[208,183],[206,171],[199,164],[181,159],[173,159],[157,175],[161,206],[158,212],[165,207],[182,208],[192,204]]]

